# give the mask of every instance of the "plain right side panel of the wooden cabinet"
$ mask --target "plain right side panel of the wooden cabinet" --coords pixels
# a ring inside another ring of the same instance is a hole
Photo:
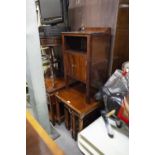
[[[92,38],[91,84],[101,87],[108,77],[110,35]]]

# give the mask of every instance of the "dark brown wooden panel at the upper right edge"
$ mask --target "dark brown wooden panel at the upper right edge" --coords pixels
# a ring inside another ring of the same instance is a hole
[[[129,61],[129,1],[121,0],[118,6],[116,35],[113,46],[112,72]]]

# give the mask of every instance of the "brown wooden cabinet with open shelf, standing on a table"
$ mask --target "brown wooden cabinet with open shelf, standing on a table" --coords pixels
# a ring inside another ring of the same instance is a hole
[[[63,32],[62,49],[66,84],[75,79],[90,87],[101,87],[108,77],[110,28],[86,28],[84,31]]]

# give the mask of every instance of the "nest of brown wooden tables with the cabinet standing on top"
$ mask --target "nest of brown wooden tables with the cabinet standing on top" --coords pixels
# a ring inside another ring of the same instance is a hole
[[[93,99],[90,99],[90,103],[86,101],[84,85],[75,84],[59,90],[55,96],[64,104],[65,125],[67,129],[71,130],[71,135],[75,140],[78,132],[100,115],[101,104]]]

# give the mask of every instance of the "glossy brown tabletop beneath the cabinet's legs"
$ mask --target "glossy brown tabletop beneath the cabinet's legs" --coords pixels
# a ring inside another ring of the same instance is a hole
[[[80,117],[85,117],[85,115],[99,106],[99,103],[92,98],[90,99],[90,103],[86,101],[85,88],[81,84],[62,89],[55,96],[76,111]]]

